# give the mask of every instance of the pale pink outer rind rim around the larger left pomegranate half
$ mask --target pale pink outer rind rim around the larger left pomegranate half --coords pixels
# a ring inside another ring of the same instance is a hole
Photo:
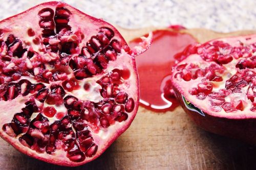
[[[89,16],[89,15],[73,8],[70,5],[61,3],[61,2],[47,2],[47,3],[37,5],[33,8],[28,9],[27,11],[25,11],[23,13],[14,15],[12,17],[9,17],[9,18],[6,18],[6,19],[0,21],[0,27],[1,28],[11,28],[12,24],[15,23],[15,20],[23,20],[23,18],[29,18],[29,17],[33,18],[33,17],[35,17],[33,15],[37,14],[38,11],[42,8],[55,9],[57,6],[65,6],[65,8],[70,10],[74,14],[73,15],[75,17],[74,19],[77,19],[76,21],[77,21],[77,24],[79,23],[79,25],[81,24],[80,21],[88,21],[88,22],[92,23],[91,24],[92,27],[88,28],[88,29],[90,29],[88,32],[92,31],[92,35],[95,34],[95,31],[93,31],[93,30],[95,30],[99,27],[109,27],[115,32],[115,38],[117,40],[119,40],[121,43],[123,43],[124,46],[127,46],[127,43],[125,42],[123,37],[120,35],[120,33],[108,22],[105,22],[101,19],[97,19],[92,16]],[[74,22],[73,22],[73,25],[75,25]],[[27,26],[20,26],[20,28],[22,28],[22,27],[27,27]],[[35,30],[40,29],[39,26],[35,26],[35,27],[38,27]],[[24,30],[26,30],[26,29],[24,28]],[[11,32],[11,30],[7,30],[7,32],[9,32],[9,31]],[[15,36],[19,37],[20,39],[23,39],[24,33],[25,33],[25,31],[21,31],[20,34],[17,33],[17,34],[15,34]],[[87,35],[87,36],[91,37],[92,35]],[[125,92],[127,92],[127,94],[134,99],[135,107],[134,107],[134,110],[131,113],[129,113],[129,117],[124,122],[115,123],[114,125],[110,126],[110,129],[108,129],[109,134],[108,134],[108,136],[106,136],[106,138],[102,139],[102,137],[100,135],[98,137],[97,137],[97,135],[94,136],[94,141],[98,145],[98,150],[94,156],[86,157],[86,159],[84,159],[81,162],[74,162],[74,161],[71,161],[69,158],[67,158],[67,153],[62,150],[57,151],[53,155],[47,154],[46,152],[45,153],[37,153],[36,151],[25,147],[22,143],[20,143],[18,141],[18,138],[13,138],[13,137],[9,136],[7,133],[5,133],[2,130],[2,128],[0,130],[0,136],[3,139],[5,139],[7,142],[9,142],[18,151],[20,151],[28,156],[31,156],[33,158],[36,158],[36,159],[39,159],[39,160],[42,160],[45,162],[53,163],[53,164],[58,164],[58,165],[63,165],[63,166],[78,166],[78,165],[82,165],[84,163],[87,163],[87,162],[90,162],[90,161],[96,159],[111,145],[111,143],[113,143],[118,138],[118,136],[120,136],[127,128],[129,128],[133,119],[135,118],[135,115],[137,113],[138,106],[139,106],[139,89],[138,89],[139,84],[138,84],[138,75],[137,75],[135,58],[134,58],[134,56],[130,56],[129,54],[127,54],[124,50],[122,50],[119,58],[123,59],[123,64],[124,65],[126,64],[126,66],[129,67],[129,69],[131,71],[131,73],[130,73],[131,76],[130,76],[129,80],[127,80],[127,81],[131,81],[131,84],[132,84],[131,86],[133,87],[133,89],[130,91],[125,91]],[[116,68],[116,66],[117,66],[117,64],[113,62],[108,65],[108,68],[109,67]],[[4,106],[4,103],[2,103],[2,105]],[[11,105],[10,105],[10,103],[8,103],[8,106],[13,106],[12,109],[9,108],[8,113],[10,113],[12,111],[13,112],[11,114],[17,113],[18,111],[16,111],[15,109],[21,109],[25,106],[24,98],[15,98],[13,100],[13,102],[11,103]],[[8,116],[3,115],[3,116],[5,116],[5,117],[1,116],[1,121],[0,121],[1,127],[3,127],[3,125],[6,123],[11,122],[11,119],[13,117],[13,115],[8,115]]]

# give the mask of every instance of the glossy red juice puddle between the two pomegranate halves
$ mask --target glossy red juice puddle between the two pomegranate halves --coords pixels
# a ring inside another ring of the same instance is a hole
[[[136,46],[139,42],[141,39],[136,38],[130,42],[130,46]],[[174,55],[195,42],[197,40],[186,33],[169,30],[153,32],[150,48],[136,58],[140,105],[156,112],[172,111],[179,106],[169,80],[176,61]]]

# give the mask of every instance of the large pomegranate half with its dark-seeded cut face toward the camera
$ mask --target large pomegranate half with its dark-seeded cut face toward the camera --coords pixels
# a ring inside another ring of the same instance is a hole
[[[61,2],[0,22],[0,135],[22,153],[78,166],[132,123],[135,53],[109,23]]]

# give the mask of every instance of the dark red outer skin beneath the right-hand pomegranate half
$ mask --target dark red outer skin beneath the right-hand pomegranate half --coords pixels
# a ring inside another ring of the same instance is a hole
[[[205,116],[203,116],[195,111],[188,110],[182,100],[180,90],[176,87],[173,87],[173,89],[181,107],[198,127],[208,132],[256,144],[256,118],[236,119],[217,117],[207,114],[207,112],[204,112]]]

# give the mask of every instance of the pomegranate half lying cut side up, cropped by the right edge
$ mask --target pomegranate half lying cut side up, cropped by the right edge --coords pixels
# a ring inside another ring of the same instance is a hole
[[[179,54],[171,81],[199,127],[256,143],[255,52],[256,35],[247,35],[190,45]]]

